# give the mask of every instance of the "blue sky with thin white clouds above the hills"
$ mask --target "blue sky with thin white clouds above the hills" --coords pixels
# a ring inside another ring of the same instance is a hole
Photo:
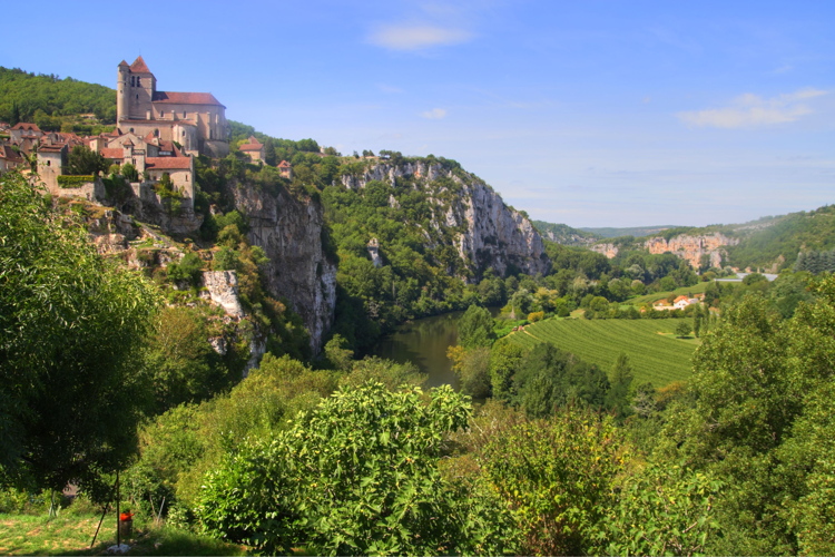
[[[453,158],[571,226],[835,202],[835,2],[132,6],[12,2],[0,66],[114,87],[141,53],[160,89],[264,133]]]

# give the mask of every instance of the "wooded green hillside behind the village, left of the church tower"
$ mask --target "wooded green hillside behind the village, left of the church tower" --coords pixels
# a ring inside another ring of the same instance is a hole
[[[0,120],[11,125],[32,121],[41,129],[58,130],[82,114],[95,115],[101,124],[114,124],[116,91],[70,77],[0,67]]]

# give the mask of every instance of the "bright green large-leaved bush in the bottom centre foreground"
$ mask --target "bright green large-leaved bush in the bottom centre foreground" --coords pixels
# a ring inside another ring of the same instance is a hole
[[[444,434],[470,404],[449,387],[380,383],[338,391],[272,441],[229,455],[208,476],[198,518],[209,531],[266,553],[491,554],[513,550],[501,504],[444,480]]]

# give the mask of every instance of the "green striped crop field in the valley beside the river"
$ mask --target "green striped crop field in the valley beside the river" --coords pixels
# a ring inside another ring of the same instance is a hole
[[[507,339],[523,348],[550,342],[572,352],[607,373],[618,354],[626,352],[638,383],[656,387],[690,377],[690,359],[699,344],[695,339],[676,339],[677,319],[654,320],[548,320],[510,333]]]

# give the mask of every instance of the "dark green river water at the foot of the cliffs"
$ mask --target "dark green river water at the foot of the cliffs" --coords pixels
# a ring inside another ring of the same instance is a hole
[[[499,314],[498,307],[490,311],[493,316]],[[414,363],[429,375],[425,388],[449,384],[458,390],[459,381],[446,358],[446,349],[458,344],[458,320],[463,313],[444,313],[404,323],[377,342],[371,353],[397,363]]]

